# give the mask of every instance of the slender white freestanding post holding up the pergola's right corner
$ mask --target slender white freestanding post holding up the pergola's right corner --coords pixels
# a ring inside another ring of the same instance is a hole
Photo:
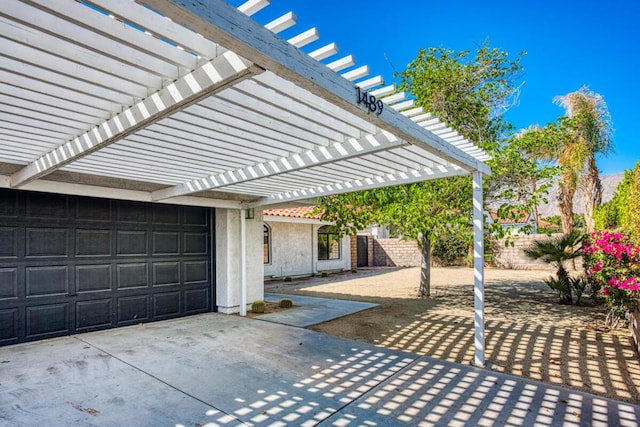
[[[473,173],[473,293],[475,366],[484,367],[484,232],[482,172]]]

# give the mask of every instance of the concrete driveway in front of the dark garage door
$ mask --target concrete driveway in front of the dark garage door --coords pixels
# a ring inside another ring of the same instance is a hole
[[[222,314],[0,348],[0,424],[635,426],[640,407]]]

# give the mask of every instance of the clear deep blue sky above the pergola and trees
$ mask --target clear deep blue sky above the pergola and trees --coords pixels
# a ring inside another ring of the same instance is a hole
[[[305,51],[335,42],[332,59],[352,54],[356,66],[369,65],[386,83],[421,47],[474,51],[488,40],[513,57],[527,51],[511,123],[553,121],[563,114],[553,98],[587,85],[604,96],[615,129],[615,152],[598,159],[601,173],[631,169],[640,159],[640,2],[271,0],[254,19],[264,24],[289,11],[298,24],[284,38],[317,27],[320,39]]]

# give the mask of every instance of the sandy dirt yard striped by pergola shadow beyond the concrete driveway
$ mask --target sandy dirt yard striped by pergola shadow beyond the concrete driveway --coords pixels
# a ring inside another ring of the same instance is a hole
[[[485,269],[486,368],[640,404],[640,358],[627,329],[605,329],[601,306],[558,304],[542,282],[551,274]],[[366,269],[267,282],[265,290],[379,304],[311,329],[471,364],[473,270],[434,268],[429,299],[417,296],[419,275]]]

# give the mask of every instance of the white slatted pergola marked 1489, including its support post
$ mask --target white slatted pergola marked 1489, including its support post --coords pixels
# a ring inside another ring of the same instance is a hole
[[[237,209],[244,242],[245,209],[471,174],[482,366],[489,157],[267,4],[0,2],[0,187]]]

